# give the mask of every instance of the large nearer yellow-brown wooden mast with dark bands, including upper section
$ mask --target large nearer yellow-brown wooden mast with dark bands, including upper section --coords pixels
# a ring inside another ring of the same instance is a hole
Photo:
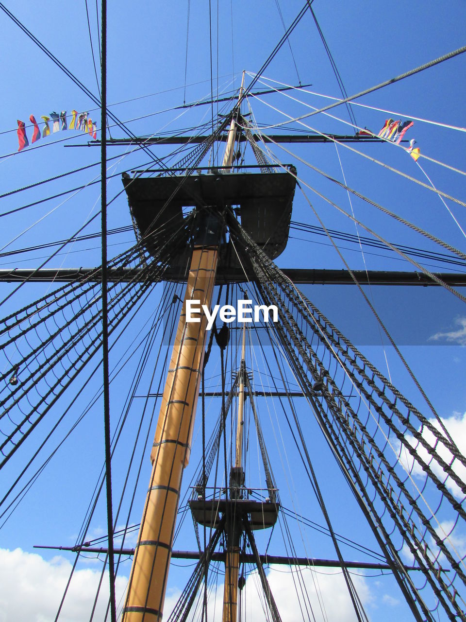
[[[244,73],[239,101],[242,98],[243,85]],[[224,167],[232,166],[235,137],[236,123],[233,117],[223,160]],[[201,314],[199,322],[186,322],[186,300],[199,300],[199,307],[202,308],[204,304],[210,308],[221,233],[216,216],[207,216],[201,223],[198,226],[199,238],[194,241],[185,299],[150,455],[152,476],[135,548],[122,622],[160,622],[163,615],[181,478],[190,458],[206,345],[206,316]]]

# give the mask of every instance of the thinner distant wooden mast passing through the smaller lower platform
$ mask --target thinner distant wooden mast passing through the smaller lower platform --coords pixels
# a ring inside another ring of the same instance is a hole
[[[243,339],[241,348],[241,363],[239,376],[238,422],[236,430],[235,468],[230,475],[230,496],[236,498],[233,486],[240,486],[243,480],[242,450],[244,429],[244,374],[245,372],[245,325],[243,325]],[[234,508],[234,506],[232,506]],[[226,551],[225,551],[225,585],[223,591],[222,622],[236,622],[238,608],[238,575],[239,575],[239,541],[242,525],[235,520],[234,512],[230,513],[226,524]]]

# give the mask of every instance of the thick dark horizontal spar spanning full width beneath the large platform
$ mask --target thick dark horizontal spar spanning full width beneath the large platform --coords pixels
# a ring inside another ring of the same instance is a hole
[[[304,268],[281,268],[281,271],[297,285],[354,285],[349,272],[345,270],[327,269],[304,269]],[[139,282],[150,281],[147,269],[132,268],[109,268],[109,282]],[[354,270],[353,274],[361,285],[421,285],[423,287],[434,285],[441,287],[436,281],[432,281],[422,272],[406,271],[381,271],[381,270]],[[435,272],[435,276],[453,287],[466,285],[466,273],[464,272]],[[184,281],[183,274],[175,269],[165,271],[165,281]],[[254,279],[254,275],[248,275]],[[70,281],[101,281],[99,268],[59,268],[59,269],[13,269],[0,270],[0,281],[4,282],[70,282]],[[230,269],[228,272],[217,275],[217,284],[227,282],[244,281],[244,272]]]

